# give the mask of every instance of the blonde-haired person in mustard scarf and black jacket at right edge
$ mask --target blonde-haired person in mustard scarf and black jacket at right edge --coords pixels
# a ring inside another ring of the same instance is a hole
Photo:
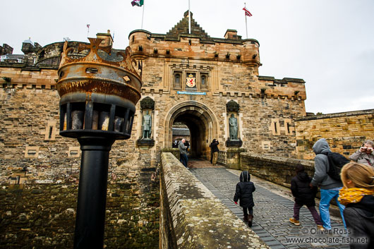
[[[344,188],[339,202],[345,205],[344,219],[350,231],[351,248],[374,248],[374,169],[350,162],[341,172]]]

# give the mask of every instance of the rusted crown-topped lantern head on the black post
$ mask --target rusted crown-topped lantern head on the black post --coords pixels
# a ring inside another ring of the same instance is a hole
[[[141,79],[131,59],[131,48],[111,54],[101,47],[102,39],[88,38],[78,52],[89,49],[83,58],[73,58],[64,44],[56,89],[60,100],[60,135],[130,138],[135,104],[140,99]]]

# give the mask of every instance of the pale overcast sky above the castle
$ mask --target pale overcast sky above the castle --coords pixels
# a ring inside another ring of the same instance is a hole
[[[245,1],[190,0],[193,18],[210,37],[227,29],[246,38]],[[248,38],[260,42],[260,75],[306,81],[306,111],[330,114],[374,109],[373,0],[252,0]],[[183,18],[188,0],[145,0],[143,30],[166,34]],[[143,7],[131,0],[1,1],[0,44],[22,54],[22,42],[45,46],[88,42],[111,30],[114,48],[128,46],[141,28]]]

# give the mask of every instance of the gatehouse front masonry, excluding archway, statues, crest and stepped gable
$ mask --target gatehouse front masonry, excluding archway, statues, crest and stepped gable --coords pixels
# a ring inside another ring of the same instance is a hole
[[[171,127],[166,126],[165,119],[170,116],[173,107],[181,102],[198,102],[214,114],[212,122],[217,126],[217,130],[207,135],[203,154],[209,153],[208,145],[213,138],[221,142],[220,149],[226,150],[224,142],[229,138],[228,120],[231,115],[226,104],[234,100],[240,105],[235,115],[239,122],[239,138],[246,150],[263,154],[277,152],[284,157],[294,154],[293,119],[306,115],[304,81],[258,76],[258,56],[251,63],[246,62],[244,57],[236,57],[238,54],[258,54],[257,41],[246,41],[246,44],[217,40],[207,44],[198,38],[180,37],[176,42],[145,30],[135,30],[129,40],[133,58],[143,60],[143,98],[151,97],[155,101],[152,133],[155,146],[171,147],[171,139],[167,136]],[[225,56],[227,53],[231,54],[228,59]],[[215,54],[218,56],[215,57]],[[174,82],[176,72],[181,73],[179,86]],[[183,84],[189,72],[195,73],[198,84],[199,75],[207,75],[206,88],[198,85],[196,89],[205,95],[178,93],[188,90]],[[140,119],[140,111],[137,114]],[[137,129],[140,128],[138,120]]]

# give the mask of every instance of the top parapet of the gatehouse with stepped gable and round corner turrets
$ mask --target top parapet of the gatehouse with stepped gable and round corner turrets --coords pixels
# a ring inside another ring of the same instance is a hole
[[[192,13],[191,13],[192,17]],[[153,34],[146,30],[133,30],[129,45],[134,59],[149,57],[170,59],[199,59],[243,63],[256,68],[261,65],[260,44],[257,40],[241,40],[236,30],[227,30],[225,38],[212,38],[191,18],[192,33],[188,33],[188,15],[167,34]]]

